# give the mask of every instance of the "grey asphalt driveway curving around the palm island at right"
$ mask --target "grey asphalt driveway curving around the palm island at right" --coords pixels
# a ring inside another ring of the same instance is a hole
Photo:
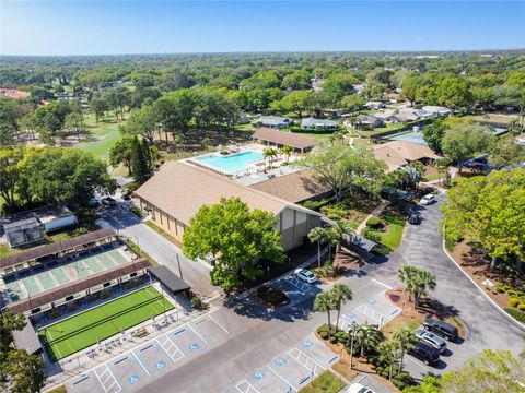
[[[509,349],[517,354],[523,348],[524,332],[503,318],[443,251],[443,240],[438,234],[444,198],[442,194],[438,203],[423,207],[423,223],[407,225],[401,246],[384,267],[378,267],[370,275],[395,286],[400,285],[395,271],[402,264],[418,265],[435,273],[438,286],[432,296],[451,306],[468,331],[465,343],[450,345],[453,356],[443,358],[448,365],[444,371],[448,371],[483,348]]]

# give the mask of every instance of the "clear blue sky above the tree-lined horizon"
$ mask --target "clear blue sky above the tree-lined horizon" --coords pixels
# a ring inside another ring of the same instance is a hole
[[[1,55],[516,48],[525,0],[0,0]]]

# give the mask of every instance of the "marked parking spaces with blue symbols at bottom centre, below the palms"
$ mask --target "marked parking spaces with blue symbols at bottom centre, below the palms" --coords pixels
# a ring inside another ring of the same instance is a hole
[[[311,334],[261,365],[226,392],[298,392],[338,359],[337,355]]]

